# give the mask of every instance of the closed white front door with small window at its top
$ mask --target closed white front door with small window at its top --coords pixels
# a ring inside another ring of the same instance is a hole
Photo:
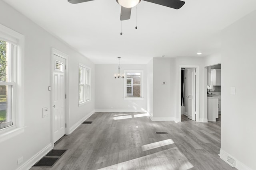
[[[65,119],[65,65],[66,59],[54,55],[53,68],[53,129],[54,143],[66,134]]]

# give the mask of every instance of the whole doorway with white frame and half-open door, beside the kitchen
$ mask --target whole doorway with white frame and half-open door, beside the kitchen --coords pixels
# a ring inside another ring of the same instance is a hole
[[[180,66],[178,121],[199,121],[199,66]]]

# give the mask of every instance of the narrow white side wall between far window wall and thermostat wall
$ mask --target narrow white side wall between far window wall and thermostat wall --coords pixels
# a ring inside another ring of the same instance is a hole
[[[153,116],[153,59],[147,64],[147,107],[150,116]]]

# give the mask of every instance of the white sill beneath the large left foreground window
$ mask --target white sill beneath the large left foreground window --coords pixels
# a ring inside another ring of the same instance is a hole
[[[0,143],[24,132],[25,127],[10,127],[0,133]]]

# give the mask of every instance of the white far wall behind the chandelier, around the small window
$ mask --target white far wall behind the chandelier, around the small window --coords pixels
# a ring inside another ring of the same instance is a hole
[[[118,60],[116,60],[118,62]],[[121,58],[122,62],[122,58]],[[117,64],[95,64],[95,109],[96,111],[135,112],[147,109],[147,65],[120,64],[124,70],[144,70],[144,99],[124,100],[124,79],[114,78],[118,73]]]

